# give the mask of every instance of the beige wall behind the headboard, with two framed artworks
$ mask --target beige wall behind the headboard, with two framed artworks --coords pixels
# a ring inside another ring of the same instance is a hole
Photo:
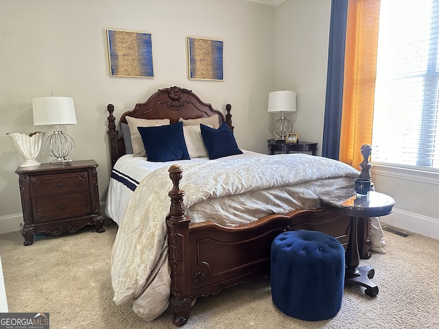
[[[181,86],[223,110],[231,103],[240,147],[265,152],[268,93],[274,87],[274,6],[237,0],[1,0],[0,232],[19,230],[15,169],[23,160],[6,132],[34,132],[32,98],[73,97],[78,125],[71,158],[99,163],[105,201],[109,152],[106,105],[119,117],[158,88]],[[153,79],[110,77],[106,29],[150,32]],[[187,37],[224,40],[224,82],[187,78]],[[42,150],[38,160],[50,160]]]

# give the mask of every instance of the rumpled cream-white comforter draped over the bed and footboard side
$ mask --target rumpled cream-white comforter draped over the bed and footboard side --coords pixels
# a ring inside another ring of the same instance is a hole
[[[209,204],[214,199],[217,199],[217,205],[221,208],[221,205],[224,206],[224,202],[221,202],[224,197],[235,200],[235,203],[255,205],[267,212],[265,215],[278,212],[280,206],[283,212],[287,212],[302,202],[307,208],[318,208],[318,192],[349,186],[359,174],[342,162],[307,154],[263,156],[250,161],[248,158],[237,158],[182,164],[182,167],[184,171],[180,186],[185,191],[187,215],[191,214],[194,204]],[[172,183],[167,169],[169,167],[163,167],[150,173],[136,188],[112,249],[113,300],[117,305],[133,300],[134,312],[146,320],[161,315],[169,301],[171,279],[167,263],[165,217],[169,214],[167,193]],[[257,199],[255,204],[251,198],[255,195],[261,197],[257,193],[263,193],[263,202]],[[247,198],[236,202],[233,195]],[[280,197],[281,202],[273,202],[273,196]],[[287,204],[294,197],[298,202]],[[211,206],[216,209],[215,204]],[[196,212],[189,215],[191,221],[196,217]],[[261,217],[261,212],[256,216]]]

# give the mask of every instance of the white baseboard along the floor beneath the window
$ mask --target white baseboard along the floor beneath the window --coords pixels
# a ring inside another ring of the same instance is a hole
[[[439,240],[439,219],[425,217],[394,209],[390,215],[380,217],[381,224],[388,224],[408,232],[414,232]]]

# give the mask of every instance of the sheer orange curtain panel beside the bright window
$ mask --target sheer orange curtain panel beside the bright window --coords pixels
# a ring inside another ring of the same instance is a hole
[[[380,0],[348,0],[339,160],[359,169],[372,143]]]

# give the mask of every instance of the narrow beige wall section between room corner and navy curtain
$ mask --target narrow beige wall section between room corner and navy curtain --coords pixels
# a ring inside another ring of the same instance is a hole
[[[331,0],[287,0],[276,5],[276,90],[297,94],[299,141],[318,143],[322,154]]]

